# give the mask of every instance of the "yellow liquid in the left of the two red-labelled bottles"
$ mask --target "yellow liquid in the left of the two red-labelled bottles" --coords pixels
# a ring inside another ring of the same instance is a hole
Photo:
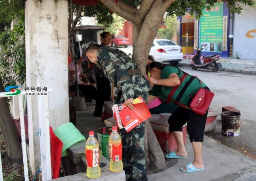
[[[87,139],[85,148],[87,150],[93,150],[93,149],[98,148],[98,151],[99,151],[99,144],[98,144],[98,141],[96,140],[96,138],[89,137]],[[98,154],[98,156],[99,156],[99,154]],[[99,163],[98,163],[97,167],[88,167],[87,166],[86,174],[89,179],[96,179],[96,178],[100,177]]]

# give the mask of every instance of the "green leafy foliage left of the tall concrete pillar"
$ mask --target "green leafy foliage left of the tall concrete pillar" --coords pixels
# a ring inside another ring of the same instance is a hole
[[[17,82],[22,85],[26,79],[24,2],[0,1],[0,77],[5,86]],[[11,31],[13,20],[15,25]]]

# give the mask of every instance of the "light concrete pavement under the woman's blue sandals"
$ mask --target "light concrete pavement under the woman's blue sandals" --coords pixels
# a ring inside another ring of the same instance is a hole
[[[221,145],[214,139],[204,136],[202,172],[183,173],[180,167],[193,161],[192,145],[187,139],[188,157],[179,159],[176,165],[149,175],[149,181],[255,181],[256,162],[236,150]]]

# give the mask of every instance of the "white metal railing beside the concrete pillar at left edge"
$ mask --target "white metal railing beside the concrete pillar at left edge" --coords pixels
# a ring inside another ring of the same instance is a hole
[[[42,79],[38,72],[35,72],[34,75],[37,77],[37,86],[44,86]],[[51,169],[51,152],[50,152],[50,129],[49,129],[49,105],[48,105],[48,93],[52,92],[52,89],[47,89],[46,95],[37,95],[37,93],[42,93],[38,91],[33,91],[30,93],[35,93],[38,99],[38,121],[39,121],[39,139],[40,139],[40,156],[41,156],[41,170],[42,170],[42,180],[52,179],[52,169]],[[13,97],[10,94],[11,92],[1,92],[0,98]],[[15,93],[15,92],[13,92]],[[19,112],[20,112],[20,133],[21,133],[21,143],[22,143],[22,157],[23,157],[23,166],[24,166],[24,179],[29,181],[28,175],[28,159],[26,151],[26,137],[25,137],[25,124],[24,124],[24,110],[23,110],[23,96],[29,93],[28,91],[22,90],[18,96],[19,99]],[[30,143],[33,144],[33,143]],[[2,161],[0,155],[0,181],[3,181],[3,172],[2,172]]]

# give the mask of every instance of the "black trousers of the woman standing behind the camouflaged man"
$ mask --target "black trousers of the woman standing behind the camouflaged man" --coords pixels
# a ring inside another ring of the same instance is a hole
[[[111,96],[110,81],[105,77],[96,78],[97,98],[94,114],[102,114],[104,101],[109,101]]]

